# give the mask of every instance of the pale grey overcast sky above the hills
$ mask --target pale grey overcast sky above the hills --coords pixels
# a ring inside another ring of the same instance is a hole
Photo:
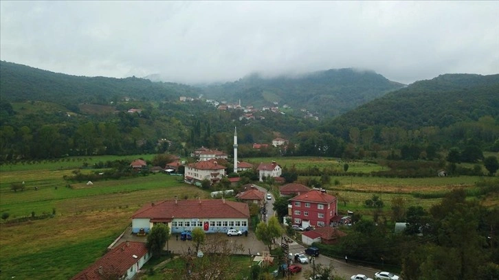
[[[499,1],[0,1],[0,59],[225,82],[354,67],[412,83],[499,73]]]

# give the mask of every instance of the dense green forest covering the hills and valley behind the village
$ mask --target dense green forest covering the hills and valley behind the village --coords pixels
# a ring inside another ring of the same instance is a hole
[[[187,155],[201,145],[230,154],[234,126],[241,157],[474,163],[483,160],[484,151],[499,151],[499,75],[447,74],[387,93],[402,85],[351,69],[301,78],[252,75],[202,88],[141,78],[76,77],[10,62],[1,62],[0,71],[1,161],[91,154]],[[254,90],[265,94],[247,94]],[[180,102],[180,96],[192,100]],[[244,97],[253,106],[274,96],[279,104],[298,102],[313,109],[317,107],[305,100],[326,96],[318,103],[322,107],[329,107],[331,98],[349,101],[337,101],[344,105],[341,108],[331,105],[331,110],[343,113],[337,117],[330,111],[329,117],[317,120],[291,106],[278,113],[258,110],[245,119],[244,110],[218,110],[206,102],[208,96]],[[137,110],[130,113],[132,108]],[[275,137],[289,140],[287,148],[252,148],[252,143],[270,143]]]

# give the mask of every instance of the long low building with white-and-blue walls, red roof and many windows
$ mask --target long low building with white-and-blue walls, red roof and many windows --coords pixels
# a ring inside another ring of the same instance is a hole
[[[151,231],[157,223],[168,224],[171,233],[192,231],[226,233],[228,229],[247,231],[249,207],[230,200],[163,200],[144,205],[132,216],[132,233]]]

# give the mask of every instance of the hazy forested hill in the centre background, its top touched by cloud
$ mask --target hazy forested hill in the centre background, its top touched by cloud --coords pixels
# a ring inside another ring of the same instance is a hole
[[[289,105],[322,116],[336,116],[374,100],[403,84],[373,71],[331,69],[298,77],[262,78],[249,75],[236,82],[204,88],[205,97],[254,106]]]

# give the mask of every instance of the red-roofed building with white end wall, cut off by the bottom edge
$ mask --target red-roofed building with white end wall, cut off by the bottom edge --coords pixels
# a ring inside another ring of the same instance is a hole
[[[143,242],[123,242],[71,280],[132,279],[151,255]]]

